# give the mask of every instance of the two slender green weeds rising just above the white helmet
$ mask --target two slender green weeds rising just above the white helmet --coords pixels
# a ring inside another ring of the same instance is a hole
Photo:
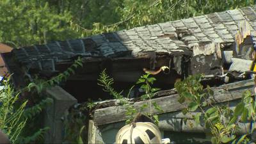
[[[126,107],[126,115],[127,115],[127,120],[126,123],[129,124],[131,123],[131,120],[134,118],[134,116],[138,113],[143,111],[145,108],[149,108],[149,112],[145,112],[150,118],[153,118],[158,124],[158,116],[154,115],[153,113],[153,108],[156,109],[157,111],[163,111],[160,106],[157,105],[156,102],[152,102],[151,99],[154,97],[154,93],[160,90],[159,88],[152,88],[152,84],[154,81],[156,81],[156,78],[150,77],[150,74],[144,74],[143,76],[138,79],[138,82],[136,84],[140,84],[141,90],[143,90],[144,94],[141,95],[141,100],[149,100],[148,103],[143,104],[143,106],[140,107],[140,109],[135,109],[131,102],[129,102],[129,99],[124,99],[124,95],[122,95],[122,92],[116,92],[115,89],[113,88],[112,84],[114,79],[109,77],[108,74],[106,73],[106,69],[103,70],[100,73],[99,76],[99,85],[103,86],[103,90],[105,92],[109,92],[109,95],[113,95],[114,99],[117,99],[120,101],[120,104]],[[126,98],[129,98],[129,95],[131,93],[131,90],[134,86],[132,86],[129,90],[129,93]]]

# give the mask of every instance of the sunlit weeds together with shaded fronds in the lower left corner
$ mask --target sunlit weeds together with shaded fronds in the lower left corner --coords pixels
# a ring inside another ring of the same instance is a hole
[[[3,84],[4,88],[0,91],[0,129],[8,134],[12,143],[31,143],[42,140],[48,127],[36,129],[31,135],[25,133],[28,131],[28,126],[32,124],[31,119],[40,114],[46,106],[49,106],[52,99],[47,98],[31,108],[27,108],[28,100],[19,99],[19,93],[14,91],[9,79]]]

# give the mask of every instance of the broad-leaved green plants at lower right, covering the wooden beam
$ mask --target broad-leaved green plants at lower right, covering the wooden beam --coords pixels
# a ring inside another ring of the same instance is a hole
[[[211,129],[212,143],[247,143],[248,136],[255,131],[244,134],[240,138],[235,135],[239,129],[238,122],[251,122],[255,124],[255,99],[252,93],[246,91],[243,93],[241,102],[235,109],[228,106],[212,105],[212,95],[214,94],[207,86],[204,88],[200,84],[202,75],[189,76],[184,81],[175,83],[175,88],[180,95],[179,102],[186,106],[182,112],[184,114],[198,112],[193,115],[196,124],[203,124],[204,127]]]

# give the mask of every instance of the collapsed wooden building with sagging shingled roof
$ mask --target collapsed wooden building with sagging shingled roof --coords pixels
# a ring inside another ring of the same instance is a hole
[[[63,125],[59,119],[70,106],[88,99],[109,102],[111,97],[97,85],[104,69],[115,79],[117,90],[129,90],[145,72],[154,74],[156,85],[162,90],[158,92],[161,97],[154,100],[164,110],[159,113],[163,135],[175,137],[180,132],[190,132],[191,136],[198,136],[196,134],[204,133],[205,129],[184,124],[183,118],[188,117],[180,112],[184,106],[177,102],[178,95],[172,90],[174,83],[189,75],[204,74],[203,83],[215,86],[216,103],[241,98],[244,90],[253,88],[252,77],[246,72],[250,71],[253,60],[255,28],[256,6],[252,6],[76,40],[20,47],[1,56],[17,88],[26,86],[26,81],[32,82],[35,75],[50,79],[66,70],[78,56],[83,58],[83,68],[77,68],[76,74],[60,86],[46,90],[55,102],[46,114],[54,116],[45,118],[45,125],[52,127],[47,143],[61,143]],[[168,68],[161,71],[164,66]],[[134,88],[132,97],[139,96]],[[140,105],[141,102],[134,102],[135,108]],[[98,107],[89,122],[89,143],[113,143],[115,133],[124,125],[124,107],[115,104],[104,107]],[[246,127],[248,125],[244,129]]]

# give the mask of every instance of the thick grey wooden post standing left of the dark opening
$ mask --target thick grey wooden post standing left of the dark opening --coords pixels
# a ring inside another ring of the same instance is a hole
[[[70,106],[76,104],[77,100],[60,86],[49,88],[46,90],[46,94],[54,102],[45,111],[45,127],[50,127],[45,134],[45,143],[62,143],[63,122],[61,117]]]

